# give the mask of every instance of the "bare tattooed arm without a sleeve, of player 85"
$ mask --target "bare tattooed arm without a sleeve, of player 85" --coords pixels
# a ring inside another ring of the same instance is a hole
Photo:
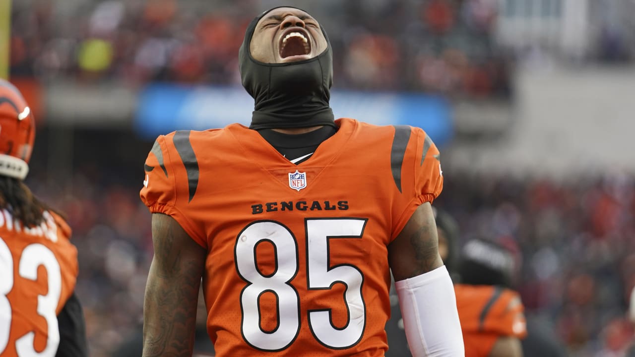
[[[176,220],[152,214],[154,258],[145,287],[143,357],[192,356],[206,250]]]

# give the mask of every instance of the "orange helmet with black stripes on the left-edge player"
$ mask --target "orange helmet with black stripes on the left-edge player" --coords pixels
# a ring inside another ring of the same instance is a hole
[[[0,175],[23,180],[36,138],[36,121],[13,84],[0,79]]]

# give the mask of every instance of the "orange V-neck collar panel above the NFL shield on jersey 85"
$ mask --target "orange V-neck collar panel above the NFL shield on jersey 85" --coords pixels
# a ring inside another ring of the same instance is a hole
[[[266,169],[290,169],[298,166],[326,166],[337,158],[342,152],[342,147],[351,137],[357,122],[354,119],[337,119],[335,125],[338,126],[337,132],[324,140],[311,158],[298,165],[284,158],[258,131],[240,124],[229,125],[227,129],[244,148],[245,154],[258,165]]]

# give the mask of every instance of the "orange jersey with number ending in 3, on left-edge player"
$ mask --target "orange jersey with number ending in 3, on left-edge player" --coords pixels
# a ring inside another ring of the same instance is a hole
[[[77,280],[77,250],[70,228],[44,212],[38,227],[24,228],[0,212],[0,356],[55,356],[57,315]]]

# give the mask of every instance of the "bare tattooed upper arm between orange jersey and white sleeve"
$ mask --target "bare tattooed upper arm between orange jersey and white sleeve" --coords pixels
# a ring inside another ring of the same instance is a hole
[[[388,259],[396,281],[443,266],[430,203],[417,208],[399,236],[388,246]]]

